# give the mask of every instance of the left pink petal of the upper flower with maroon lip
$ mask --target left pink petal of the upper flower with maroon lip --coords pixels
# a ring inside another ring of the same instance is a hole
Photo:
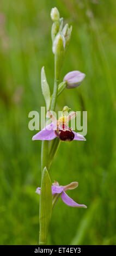
[[[32,140],[40,139],[41,141],[51,141],[51,139],[56,138],[57,136],[54,133],[55,125],[51,123],[50,125],[47,125],[44,129],[42,129],[40,132],[36,133]]]

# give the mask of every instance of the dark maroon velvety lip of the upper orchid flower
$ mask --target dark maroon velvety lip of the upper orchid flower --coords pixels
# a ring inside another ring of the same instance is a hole
[[[56,136],[61,140],[61,141],[73,141],[75,135],[74,132],[72,132],[70,129],[69,130],[56,130],[54,131]]]

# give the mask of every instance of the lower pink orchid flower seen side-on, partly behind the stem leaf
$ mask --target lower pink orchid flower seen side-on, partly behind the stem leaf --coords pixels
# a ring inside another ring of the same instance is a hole
[[[60,194],[61,199],[63,200],[63,202],[71,207],[79,207],[79,208],[87,208],[86,205],[84,204],[77,204],[72,198],[70,198],[68,196],[68,194],[65,193],[66,190],[74,190],[74,188],[76,188],[78,186],[78,182],[71,182],[70,184],[66,185],[66,186],[59,186],[58,182],[54,182],[52,184],[52,196],[54,194]],[[38,187],[36,188],[36,193],[40,194],[41,192],[41,188]]]

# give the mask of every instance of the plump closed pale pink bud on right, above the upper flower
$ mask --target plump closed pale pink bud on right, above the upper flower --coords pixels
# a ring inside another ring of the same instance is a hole
[[[71,89],[80,86],[85,76],[86,75],[80,71],[71,71],[65,75],[63,81],[67,83],[66,88]]]

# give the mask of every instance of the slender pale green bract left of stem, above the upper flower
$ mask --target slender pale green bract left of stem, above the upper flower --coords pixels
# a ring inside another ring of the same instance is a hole
[[[49,88],[47,80],[46,80],[44,66],[41,69],[41,89],[42,89],[42,94],[44,95],[44,99],[46,102],[46,109],[48,110],[50,108],[51,95],[50,95],[50,88]]]

